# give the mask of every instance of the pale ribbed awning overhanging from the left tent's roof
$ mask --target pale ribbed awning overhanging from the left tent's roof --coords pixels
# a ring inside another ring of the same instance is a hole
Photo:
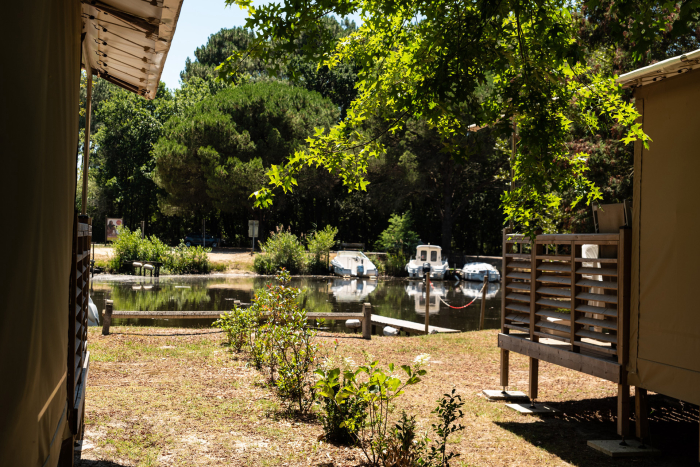
[[[83,0],[83,68],[153,99],[182,2]]]

